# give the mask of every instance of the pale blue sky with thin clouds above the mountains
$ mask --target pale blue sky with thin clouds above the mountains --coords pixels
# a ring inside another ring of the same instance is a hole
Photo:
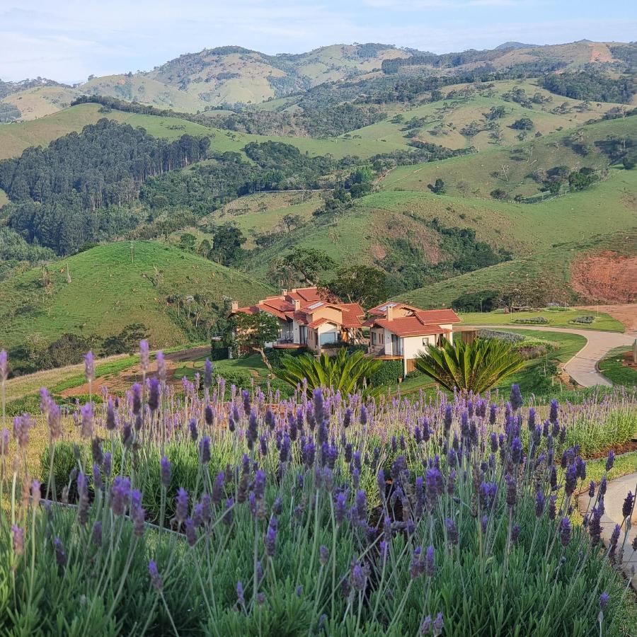
[[[75,83],[203,48],[382,42],[443,53],[515,40],[637,40],[629,0],[0,0],[0,79]]]

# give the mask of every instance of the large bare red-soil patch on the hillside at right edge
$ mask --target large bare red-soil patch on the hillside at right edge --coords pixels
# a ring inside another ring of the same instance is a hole
[[[570,267],[570,285],[588,302],[634,303],[637,256],[606,251],[580,258]]]

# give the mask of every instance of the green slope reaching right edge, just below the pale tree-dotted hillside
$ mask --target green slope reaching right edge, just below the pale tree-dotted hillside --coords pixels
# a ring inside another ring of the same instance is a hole
[[[609,136],[637,139],[637,117],[599,122],[577,131],[554,132],[510,148],[481,147],[477,154],[455,157],[444,164],[400,166],[391,171],[382,185],[386,190],[429,192],[427,185],[442,177],[451,195],[486,198],[492,190],[501,188],[510,196],[529,197],[539,193],[540,184],[532,177],[535,171],[548,171],[556,166],[569,166],[573,170],[607,166],[609,161],[599,142],[605,142]]]

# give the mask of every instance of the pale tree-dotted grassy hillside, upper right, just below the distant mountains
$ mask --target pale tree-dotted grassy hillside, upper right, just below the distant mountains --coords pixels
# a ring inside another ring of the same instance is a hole
[[[527,137],[531,139],[538,132],[546,135],[561,128],[573,128],[588,120],[599,119],[617,106],[612,103],[590,103],[583,109],[582,102],[553,95],[544,88],[539,88],[536,80],[497,81],[478,87],[476,90],[471,85],[468,87],[466,84],[456,84],[442,90],[445,96],[455,93],[455,98],[445,98],[412,108],[394,106],[391,113],[401,113],[402,118],[399,117],[399,121],[395,117],[388,117],[382,122],[345,134],[345,137],[360,136],[367,142],[383,140],[396,144],[406,144],[410,139],[418,139],[452,149],[474,146],[484,150],[492,146],[516,144],[520,131],[512,128],[512,124],[521,117],[529,117],[533,122],[533,129],[527,133]],[[462,92],[466,88],[469,88],[470,93]],[[510,99],[507,101],[505,96],[514,89],[524,90],[529,100],[539,95],[544,103],[522,106]],[[503,117],[493,120],[500,128],[501,137],[498,142],[493,138],[492,131],[483,130],[488,124],[484,114],[492,107],[505,109]],[[411,120],[422,121],[418,122],[418,126],[412,127],[408,126]],[[464,132],[464,127],[471,122],[477,122],[481,132],[474,135]]]

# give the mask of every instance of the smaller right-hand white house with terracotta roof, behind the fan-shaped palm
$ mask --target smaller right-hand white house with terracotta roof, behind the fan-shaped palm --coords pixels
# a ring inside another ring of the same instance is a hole
[[[373,307],[367,314],[368,353],[384,360],[402,360],[403,373],[412,372],[414,359],[427,345],[453,342],[454,323],[460,319],[452,309],[422,310],[398,302]]]

